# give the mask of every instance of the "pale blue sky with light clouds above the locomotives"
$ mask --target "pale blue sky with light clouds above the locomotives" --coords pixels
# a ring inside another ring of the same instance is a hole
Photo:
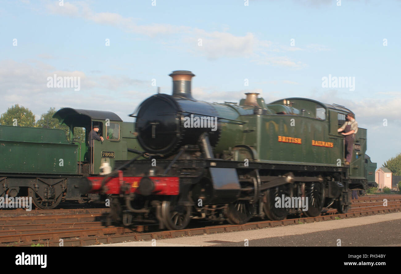
[[[36,119],[72,107],[134,121],[188,70],[198,100],[344,105],[380,167],[401,152],[400,12],[399,0],[0,0],[0,113],[18,103]],[[49,87],[54,75],[79,77],[79,90]]]

